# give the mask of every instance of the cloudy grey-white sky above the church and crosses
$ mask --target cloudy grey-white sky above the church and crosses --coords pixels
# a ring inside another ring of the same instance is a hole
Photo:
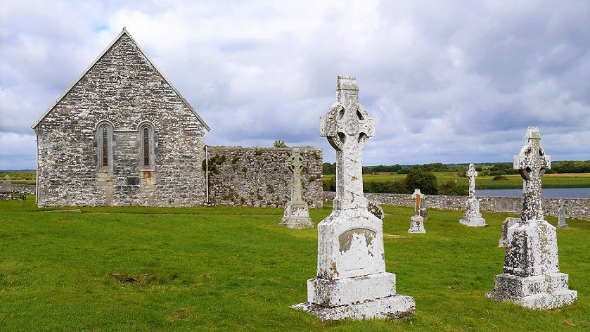
[[[338,75],[376,119],[364,165],[511,161],[537,126],[590,160],[590,1],[27,1],[0,6],[0,169],[122,27],[212,128],[319,146]]]

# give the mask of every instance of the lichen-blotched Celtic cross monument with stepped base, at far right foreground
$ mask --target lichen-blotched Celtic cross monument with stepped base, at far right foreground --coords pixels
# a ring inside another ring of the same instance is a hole
[[[529,127],[525,146],[514,157],[514,168],[524,179],[520,221],[508,228],[504,273],[494,278],[496,301],[511,301],[531,309],[570,305],[577,291],[568,289],[568,276],[559,272],[556,228],[544,220],[541,177],[551,167],[541,148],[537,127]]]

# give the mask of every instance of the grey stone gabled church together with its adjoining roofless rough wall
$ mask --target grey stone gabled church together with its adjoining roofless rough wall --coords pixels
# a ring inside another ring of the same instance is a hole
[[[39,207],[288,200],[291,149],[205,146],[210,127],[124,28],[32,129]],[[321,148],[300,150],[304,197],[320,208]]]

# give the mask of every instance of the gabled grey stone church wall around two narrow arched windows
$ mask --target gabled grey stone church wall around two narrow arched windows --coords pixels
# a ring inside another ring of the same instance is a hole
[[[96,125],[113,132],[113,170],[98,169]],[[155,170],[140,170],[138,126],[155,127]],[[207,128],[122,34],[37,127],[39,206],[193,206],[205,200]]]

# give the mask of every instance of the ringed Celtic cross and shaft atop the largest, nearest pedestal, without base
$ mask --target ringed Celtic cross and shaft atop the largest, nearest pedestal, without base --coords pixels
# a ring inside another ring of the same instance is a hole
[[[334,209],[366,209],[361,148],[375,136],[375,121],[359,104],[357,77],[339,75],[336,91],[336,103],[320,117],[320,136],[336,150]]]

